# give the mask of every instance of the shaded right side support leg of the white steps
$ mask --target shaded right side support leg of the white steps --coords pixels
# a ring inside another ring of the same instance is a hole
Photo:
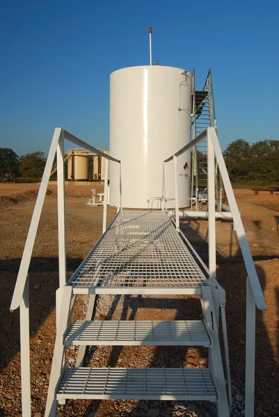
[[[218,325],[216,322],[216,314],[214,311],[212,288],[210,286],[202,287],[200,302],[202,304],[202,311],[205,317],[207,332],[209,332],[209,335],[212,338],[212,347],[209,347],[208,362],[209,369],[211,370],[212,375],[214,375],[219,392],[219,398],[216,404],[218,417],[229,417],[230,411],[228,406],[227,392],[225,389],[225,377],[218,338]]]

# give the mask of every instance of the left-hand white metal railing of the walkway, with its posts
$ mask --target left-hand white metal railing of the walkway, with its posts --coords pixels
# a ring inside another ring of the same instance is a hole
[[[106,231],[106,205],[108,201],[108,174],[109,174],[109,161],[119,163],[120,167],[120,199],[118,204],[118,211],[122,210],[121,203],[121,163],[118,159],[113,158],[99,149],[88,145],[83,140],[77,138],[61,129],[56,127],[54,130],[54,136],[51,141],[49,154],[47,156],[47,162],[45,164],[44,174],[40,183],[38,197],[35,202],[35,208],[33,211],[31,224],[26,238],[24,246],[24,252],[22,254],[22,261],[19,266],[19,272],[17,275],[17,281],[15,283],[15,290],[13,293],[13,299],[10,304],[10,311],[16,310],[20,307],[20,356],[21,356],[21,377],[22,377],[22,416],[31,417],[31,385],[30,385],[30,341],[29,341],[29,279],[28,271],[35,243],[35,236],[38,231],[38,224],[40,221],[40,215],[42,213],[42,206],[45,201],[45,195],[47,192],[47,184],[51,174],[51,168],[54,163],[54,157],[57,152],[57,200],[58,200],[58,262],[59,262],[59,286],[64,286],[67,281],[67,269],[66,269],[66,242],[65,242],[65,172],[64,172],[64,140],[78,145],[83,149],[93,152],[99,156],[105,158],[105,178],[104,178],[104,207],[103,207],[103,227],[102,231]]]

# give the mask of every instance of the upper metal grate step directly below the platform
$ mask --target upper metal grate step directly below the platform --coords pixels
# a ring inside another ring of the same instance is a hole
[[[201,320],[175,321],[76,321],[65,337],[70,345],[209,346]]]

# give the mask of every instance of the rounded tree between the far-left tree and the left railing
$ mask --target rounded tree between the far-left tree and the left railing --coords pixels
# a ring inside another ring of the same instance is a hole
[[[41,178],[45,169],[45,154],[37,151],[19,158],[19,174],[22,177]]]

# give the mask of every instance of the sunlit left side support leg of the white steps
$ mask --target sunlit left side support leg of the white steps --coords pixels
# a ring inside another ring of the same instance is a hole
[[[61,377],[63,363],[65,361],[65,346],[63,336],[70,320],[70,307],[72,302],[72,287],[64,286],[56,291],[56,305],[58,311],[58,326],[56,329],[56,340],[54,345],[54,357],[52,359],[49,389],[47,393],[47,406],[45,417],[56,416],[56,389]]]

